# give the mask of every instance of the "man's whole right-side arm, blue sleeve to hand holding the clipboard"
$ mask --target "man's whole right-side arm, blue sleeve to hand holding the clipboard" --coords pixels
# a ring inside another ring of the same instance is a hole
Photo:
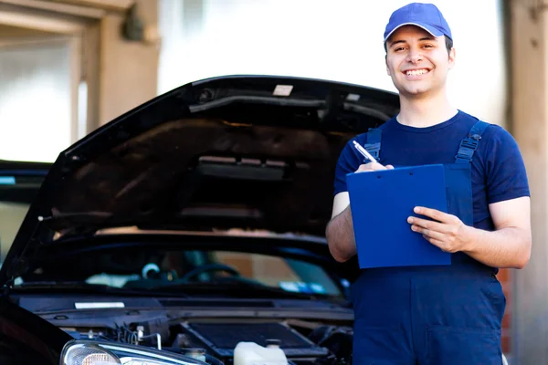
[[[522,268],[529,262],[532,246],[527,172],[510,133],[493,126],[484,136],[488,134],[488,144],[476,163],[485,173],[493,232],[467,226],[456,216],[426,208],[418,211],[437,223],[411,217],[409,221],[414,231],[444,251],[461,251],[487,266]]]

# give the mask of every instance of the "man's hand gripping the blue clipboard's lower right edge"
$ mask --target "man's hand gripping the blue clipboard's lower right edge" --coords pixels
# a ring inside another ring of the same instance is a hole
[[[435,222],[410,216],[407,222],[411,224],[411,229],[422,234],[429,243],[437,245],[442,251],[453,254],[467,251],[473,245],[474,238],[470,227],[462,223],[457,216],[425,207],[416,207],[414,212]]]

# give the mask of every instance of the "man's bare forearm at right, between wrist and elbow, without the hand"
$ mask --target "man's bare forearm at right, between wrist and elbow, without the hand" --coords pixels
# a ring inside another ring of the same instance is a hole
[[[470,245],[463,252],[492,267],[523,268],[531,256],[531,232],[501,228],[489,232],[469,227]]]

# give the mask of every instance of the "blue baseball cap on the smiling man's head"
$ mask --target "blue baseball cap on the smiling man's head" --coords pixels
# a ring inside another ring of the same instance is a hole
[[[432,36],[448,36],[451,29],[436,5],[411,3],[395,10],[385,29],[385,42],[400,26],[420,26]]]

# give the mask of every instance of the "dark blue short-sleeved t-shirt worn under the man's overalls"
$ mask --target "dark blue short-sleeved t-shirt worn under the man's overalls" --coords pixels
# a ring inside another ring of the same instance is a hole
[[[432,127],[416,128],[400,124],[395,118],[379,127],[382,130],[380,163],[397,166],[453,163],[460,141],[478,121],[458,110],[458,113]],[[349,141],[337,162],[334,194],[346,192],[346,174],[355,172],[364,157],[355,150],[352,141],[367,142],[366,134]],[[511,134],[492,124],[479,140],[471,162],[474,226],[492,230],[489,204],[522,196],[530,196],[529,183],[522,154]]]

